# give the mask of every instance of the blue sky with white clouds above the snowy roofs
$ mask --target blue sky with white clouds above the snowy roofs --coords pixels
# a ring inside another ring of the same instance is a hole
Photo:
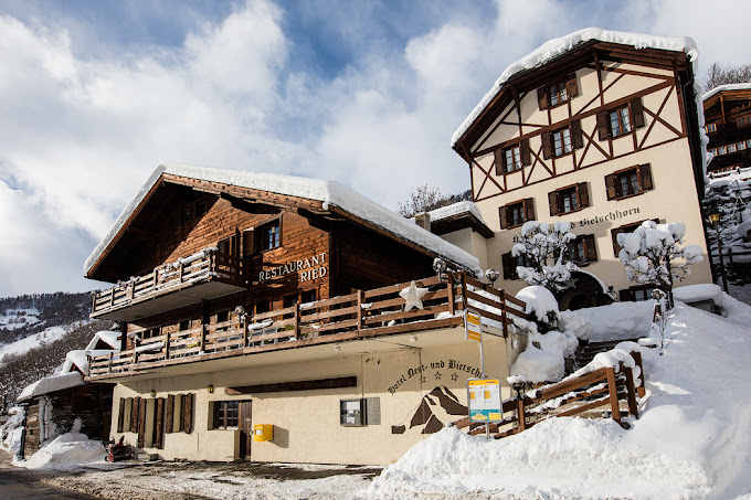
[[[701,73],[750,62],[749,13],[698,0],[0,0],[0,296],[96,287],[84,259],[160,162],[337,180],[396,209],[425,183],[468,188],[453,131],[544,41],[590,25],[688,35]]]

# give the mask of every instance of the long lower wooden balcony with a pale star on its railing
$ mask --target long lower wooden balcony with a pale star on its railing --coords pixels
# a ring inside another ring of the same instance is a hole
[[[253,317],[136,339],[134,349],[93,358],[88,377],[119,379],[184,363],[455,329],[464,325],[463,311],[467,307],[479,310],[493,323],[491,329],[495,327],[494,331],[504,337],[514,316],[531,320],[523,312],[525,302],[463,273],[448,274],[443,279],[421,279],[416,285],[429,288],[422,299],[423,309],[404,311],[404,299],[399,292],[409,284],[359,290]],[[248,361],[243,363],[247,365]]]

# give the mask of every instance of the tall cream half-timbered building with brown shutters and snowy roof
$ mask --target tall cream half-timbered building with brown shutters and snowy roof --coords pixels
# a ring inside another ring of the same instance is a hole
[[[648,297],[628,281],[616,243],[646,220],[684,222],[686,242],[706,254],[695,56],[690,39],[586,29],[501,74],[452,141],[494,234],[484,262],[503,269],[501,288],[526,285],[511,247],[532,220],[573,224],[570,257],[582,272],[562,308],[597,305],[609,289]],[[705,259],[684,283],[710,280]]]

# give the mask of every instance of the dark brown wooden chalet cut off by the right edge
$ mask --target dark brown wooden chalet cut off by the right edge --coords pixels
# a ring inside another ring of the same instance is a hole
[[[751,167],[751,83],[720,85],[702,97],[710,175]]]

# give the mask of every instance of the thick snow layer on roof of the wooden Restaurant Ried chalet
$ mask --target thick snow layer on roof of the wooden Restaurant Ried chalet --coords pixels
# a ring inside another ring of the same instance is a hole
[[[328,210],[331,205],[338,206],[395,236],[438,254],[478,276],[482,274],[477,257],[423,230],[374,201],[356,193],[339,182],[178,163],[165,163],[157,167],[133,201],[123,210],[123,213],[117,217],[109,232],[94,248],[92,255],[88,256],[84,263],[84,274],[88,275],[94,264],[102,257],[105,249],[115,240],[130,215],[163,173],[317,200],[321,202],[324,210]]]

